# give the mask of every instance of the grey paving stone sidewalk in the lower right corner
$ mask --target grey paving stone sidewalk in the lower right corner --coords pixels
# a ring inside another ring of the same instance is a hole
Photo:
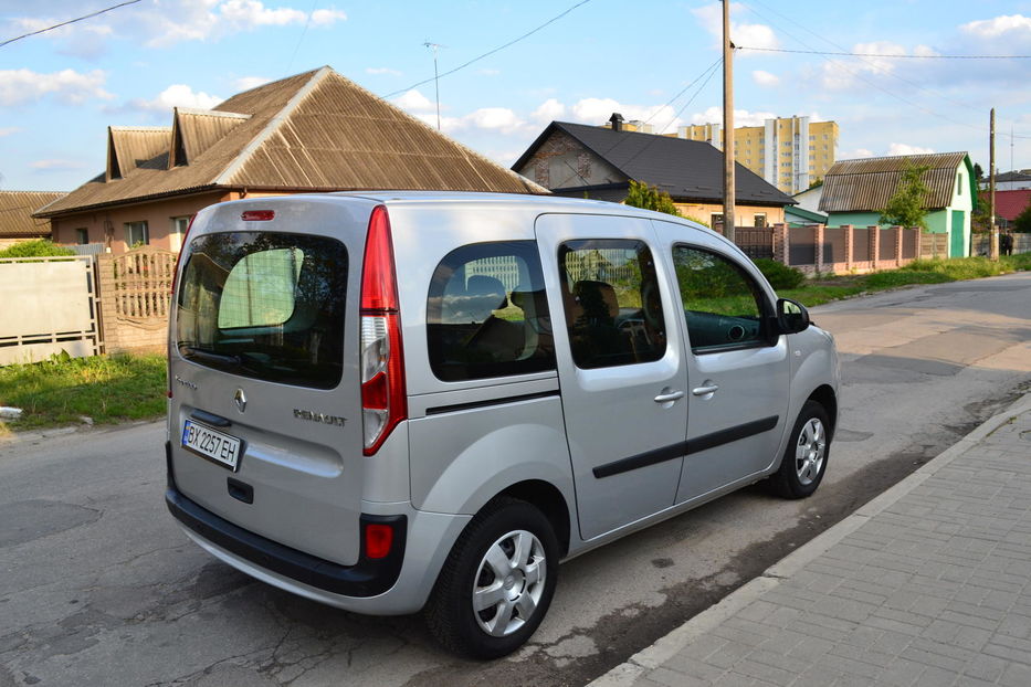
[[[1031,394],[592,683],[1031,686]]]

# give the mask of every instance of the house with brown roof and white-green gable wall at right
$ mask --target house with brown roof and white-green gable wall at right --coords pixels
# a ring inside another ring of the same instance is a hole
[[[876,226],[903,173],[926,167],[923,207],[927,232],[948,235],[949,257],[970,254],[970,215],[977,209],[974,163],[966,152],[900,155],[839,160],[823,178],[820,212],[828,226]]]

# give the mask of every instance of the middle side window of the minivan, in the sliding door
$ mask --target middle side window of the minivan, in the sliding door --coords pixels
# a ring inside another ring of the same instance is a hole
[[[655,262],[642,241],[597,239],[559,247],[572,360],[583,369],[650,362],[666,350]]]

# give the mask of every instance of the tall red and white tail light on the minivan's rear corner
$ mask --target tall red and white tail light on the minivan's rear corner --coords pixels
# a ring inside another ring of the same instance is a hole
[[[387,208],[369,218],[361,267],[361,422],[374,455],[408,416],[397,272]]]

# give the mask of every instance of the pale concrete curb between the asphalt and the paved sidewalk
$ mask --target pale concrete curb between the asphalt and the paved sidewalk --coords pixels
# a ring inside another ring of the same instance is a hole
[[[1014,401],[1004,411],[982,422],[972,432],[922,465],[912,475],[861,506],[827,531],[812,538],[778,562],[767,568],[759,577],[736,589],[716,604],[687,620],[683,625],[641,649],[625,663],[620,664],[589,683],[590,687],[630,687],[645,673],[662,666],[692,642],[717,627],[735,613],[758,600],[762,594],[799,572],[832,546],[865,525],[872,517],[890,508],[903,496],[918,487],[935,473],[976,446],[1012,418],[1031,411],[1031,392]]]

